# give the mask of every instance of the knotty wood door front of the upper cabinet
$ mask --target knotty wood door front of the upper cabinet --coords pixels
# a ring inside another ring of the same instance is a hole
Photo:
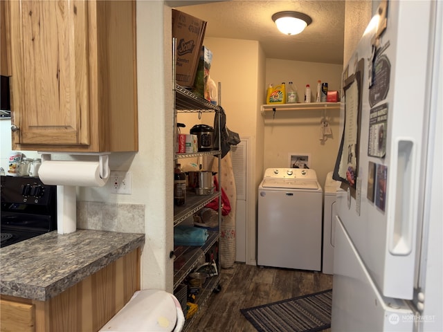
[[[9,6],[13,144],[89,145],[87,3]]]

